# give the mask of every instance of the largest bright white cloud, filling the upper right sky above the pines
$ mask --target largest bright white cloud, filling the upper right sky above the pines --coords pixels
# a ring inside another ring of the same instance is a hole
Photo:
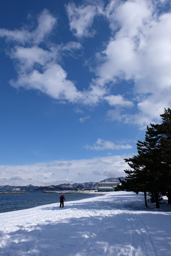
[[[106,49],[97,54],[102,63],[96,68],[99,83],[116,83],[118,78],[132,80],[133,93],[140,96],[135,115],[109,110],[108,117],[137,124],[140,129],[148,122],[159,121],[164,108],[171,105],[171,13],[158,14],[157,4],[146,0],[110,1],[106,17],[113,36]],[[105,99],[111,106],[116,105],[112,95]]]

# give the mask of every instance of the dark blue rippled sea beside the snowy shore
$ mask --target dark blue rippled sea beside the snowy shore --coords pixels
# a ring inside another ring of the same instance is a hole
[[[3,192],[3,191],[0,191]],[[0,194],[0,212],[16,211],[59,202],[61,194],[29,191],[29,193]],[[65,200],[75,201],[95,197],[92,194],[64,194]]]

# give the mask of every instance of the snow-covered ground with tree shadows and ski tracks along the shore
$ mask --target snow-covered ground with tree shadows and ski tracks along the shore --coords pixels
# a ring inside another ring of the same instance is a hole
[[[170,256],[171,206],[143,193],[107,192],[80,201],[0,214],[0,256]]]

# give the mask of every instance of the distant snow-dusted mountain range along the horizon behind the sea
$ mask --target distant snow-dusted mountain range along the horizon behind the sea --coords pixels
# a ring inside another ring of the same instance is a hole
[[[124,180],[124,177],[118,177],[118,178],[108,178],[108,179],[104,179],[100,182],[117,182],[118,184],[120,184],[119,182],[119,178],[121,180]],[[38,186],[33,186],[32,184],[29,184],[27,186],[9,186],[9,185],[5,185],[5,186],[0,186],[0,190],[2,191],[27,191],[27,190],[31,190],[31,191],[63,191],[63,190],[76,190],[76,189],[83,189],[83,188],[97,188],[97,184],[98,182],[84,182],[84,183],[74,183],[74,184],[67,184],[67,183],[63,183],[57,186],[54,185],[50,185],[50,186],[44,186],[44,187],[38,187]]]

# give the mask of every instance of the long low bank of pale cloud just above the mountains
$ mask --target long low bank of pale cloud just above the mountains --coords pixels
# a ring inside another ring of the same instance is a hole
[[[0,184],[25,186],[31,182],[34,186],[47,186],[62,183],[99,182],[110,177],[125,176],[124,169],[128,169],[129,166],[124,158],[129,157],[132,155],[72,160],[69,165],[67,165],[68,161],[64,160],[23,166],[0,165]]]

